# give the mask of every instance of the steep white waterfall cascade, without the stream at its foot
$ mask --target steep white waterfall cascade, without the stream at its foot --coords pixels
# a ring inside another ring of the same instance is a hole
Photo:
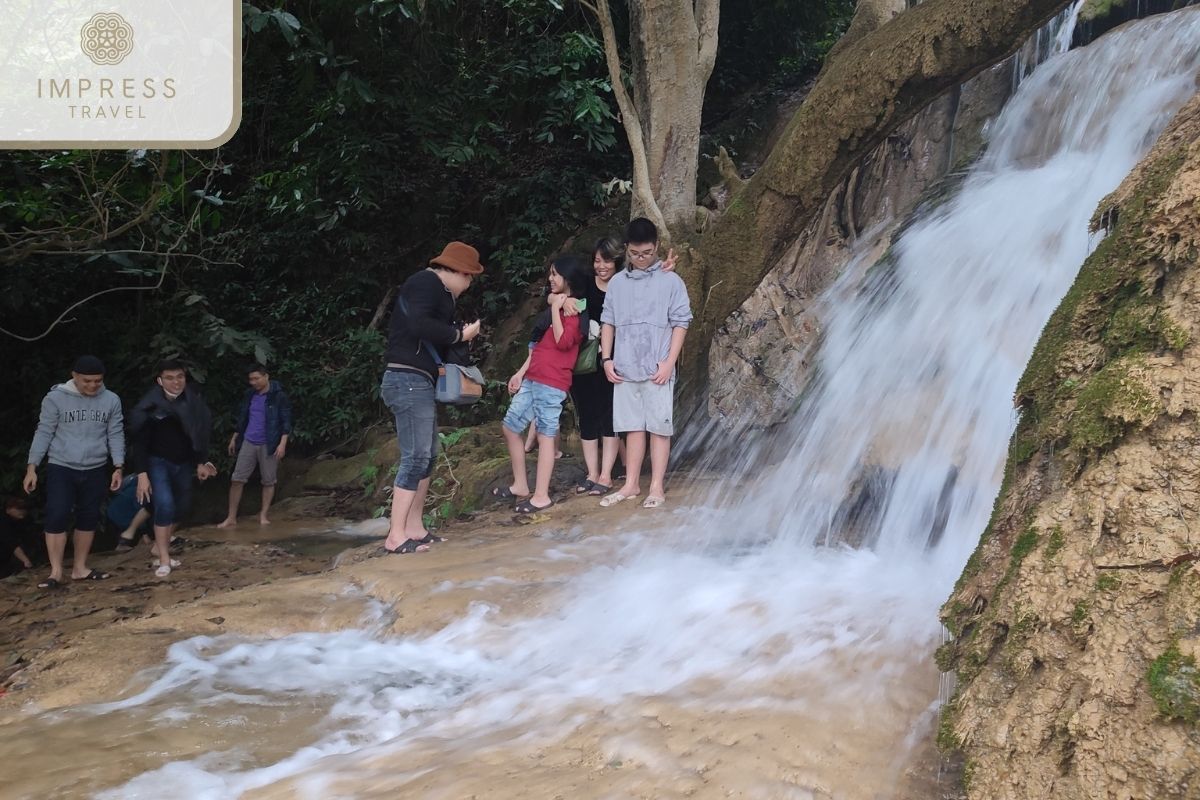
[[[824,301],[815,378],[772,434],[787,455],[752,475],[772,443],[748,445],[724,485],[744,498],[728,510],[740,530],[889,558],[930,547],[953,581],[1000,486],[1016,380],[1090,252],[1088,218],[1195,91],[1196,41],[1200,13],[1183,11],[1050,60],[959,193],[877,264],[850,265]]]

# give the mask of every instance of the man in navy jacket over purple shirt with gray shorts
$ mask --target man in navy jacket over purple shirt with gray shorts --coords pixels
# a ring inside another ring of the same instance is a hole
[[[258,524],[269,525],[266,512],[275,498],[280,459],[288,451],[292,435],[292,402],[283,393],[280,381],[271,380],[266,367],[253,363],[247,369],[250,389],[238,414],[238,429],[229,439],[229,455],[238,457],[229,483],[229,516],[218,528],[238,524],[238,505],[241,503],[246,481],[258,468],[263,483],[263,507],[258,512]]]

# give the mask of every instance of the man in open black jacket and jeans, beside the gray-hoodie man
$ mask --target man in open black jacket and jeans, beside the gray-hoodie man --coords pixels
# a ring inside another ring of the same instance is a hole
[[[155,572],[170,575],[170,535],[192,500],[192,473],[202,481],[217,474],[209,461],[212,415],[199,391],[187,384],[179,361],[158,365],[157,384],[130,411],[130,455],[138,475],[138,500],[154,497]]]

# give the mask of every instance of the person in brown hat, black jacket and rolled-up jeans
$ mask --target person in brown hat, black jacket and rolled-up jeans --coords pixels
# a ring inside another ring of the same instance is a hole
[[[391,527],[384,549],[415,553],[438,539],[425,529],[422,512],[438,449],[434,381],[438,365],[431,348],[444,350],[479,336],[479,320],[454,321],[455,300],[484,271],[479,251],[452,241],[430,267],[400,288],[388,331],[388,368],[380,395],[396,417],[400,464],[391,492]]]

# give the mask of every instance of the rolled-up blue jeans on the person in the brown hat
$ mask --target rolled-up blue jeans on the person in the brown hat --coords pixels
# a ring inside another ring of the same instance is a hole
[[[379,395],[396,417],[396,441],[400,444],[396,488],[415,492],[416,485],[433,474],[433,457],[438,452],[433,383],[415,372],[389,369],[383,373]]]

